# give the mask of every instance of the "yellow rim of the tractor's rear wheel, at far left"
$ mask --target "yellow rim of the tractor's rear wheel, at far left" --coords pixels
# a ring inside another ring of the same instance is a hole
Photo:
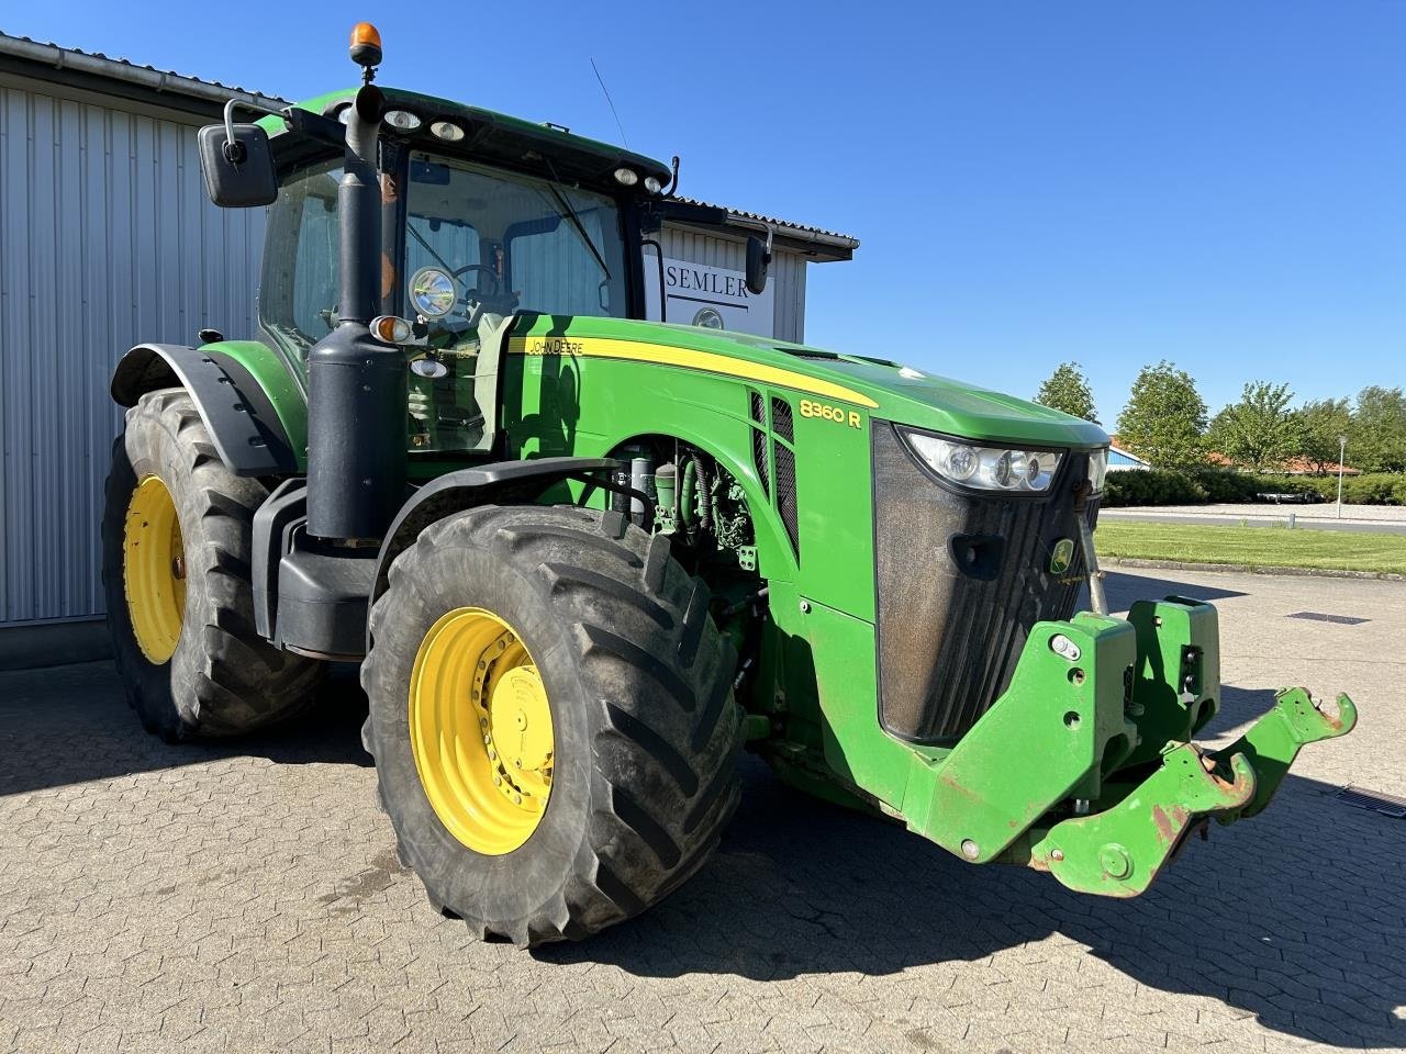
[[[186,548],[176,502],[156,476],[143,476],[127,506],[122,592],[136,644],[159,666],[174,653],[186,617]]]

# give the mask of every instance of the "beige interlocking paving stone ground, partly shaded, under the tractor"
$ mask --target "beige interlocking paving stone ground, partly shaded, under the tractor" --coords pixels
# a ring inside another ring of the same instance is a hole
[[[396,864],[350,684],[208,749],[146,736],[107,663],[0,675],[0,1051],[1406,1047],[1406,821],[1331,797],[1406,794],[1406,586],[1111,576],[1167,592],[1222,610],[1219,738],[1281,683],[1351,687],[1362,720],[1147,895],[974,868],[749,763],[696,878],[534,953]]]

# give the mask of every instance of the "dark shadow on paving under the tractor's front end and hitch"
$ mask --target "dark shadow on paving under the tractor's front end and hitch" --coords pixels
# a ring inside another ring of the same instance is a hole
[[[1227,691],[1216,727],[1270,701]],[[792,791],[748,759],[738,815],[699,876],[634,922],[534,954],[754,981],[950,963],[1005,984],[1005,953],[1022,975],[1047,978],[1043,1001],[1121,1003],[1143,985],[1215,999],[1289,1036],[1402,1048],[1406,826],[1327,797],[1336,790],[1291,774],[1267,812],[1212,824],[1211,843],[1191,842],[1147,894],[1114,901],[1033,871],[967,866],[897,825]],[[1014,1012],[1019,995],[1010,998]]]

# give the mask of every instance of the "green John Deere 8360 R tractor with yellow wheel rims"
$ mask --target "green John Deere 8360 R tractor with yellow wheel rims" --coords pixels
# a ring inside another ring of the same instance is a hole
[[[402,860],[523,946],[693,874],[744,748],[963,860],[1132,897],[1351,729],[1292,689],[1191,742],[1216,613],[1109,617],[1097,426],[647,322],[651,235],[725,221],[676,167],[382,90],[367,24],[352,56],[360,87],[200,132],[215,204],[269,207],[262,339],[112,378],[108,617],[150,731],[249,732],[359,662]]]

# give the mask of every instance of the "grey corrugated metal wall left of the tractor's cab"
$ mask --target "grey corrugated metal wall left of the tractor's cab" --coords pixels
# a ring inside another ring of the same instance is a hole
[[[0,87],[0,624],[103,611],[112,367],[252,336],[263,222],[205,200],[194,125]]]

